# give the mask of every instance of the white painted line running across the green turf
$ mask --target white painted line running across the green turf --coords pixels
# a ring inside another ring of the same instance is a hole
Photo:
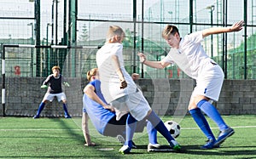
[[[232,128],[256,128],[256,126],[237,126]],[[182,130],[193,130],[199,128],[181,128]],[[212,128],[218,129],[218,128]],[[0,131],[64,131],[64,130],[72,130],[72,131],[81,131],[81,128],[0,128]]]

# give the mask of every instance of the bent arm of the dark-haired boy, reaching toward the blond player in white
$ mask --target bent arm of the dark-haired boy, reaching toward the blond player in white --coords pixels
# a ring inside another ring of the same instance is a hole
[[[149,67],[153,67],[153,68],[157,68],[157,69],[163,69],[163,68],[166,68],[167,65],[170,65],[170,63],[167,63],[163,60],[161,60],[161,61],[147,60],[145,54],[143,54],[143,53],[138,53],[137,55],[139,56],[140,61],[144,65],[148,65]]]

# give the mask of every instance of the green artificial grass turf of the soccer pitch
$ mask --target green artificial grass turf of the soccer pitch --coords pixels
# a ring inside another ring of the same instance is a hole
[[[104,137],[90,125],[90,134],[96,147],[84,146],[81,118],[39,118],[1,117],[0,118],[0,157],[1,158],[256,158],[256,116],[223,116],[225,122],[236,133],[218,149],[200,150],[205,144],[205,136],[195,125],[191,116],[180,122],[181,134],[177,141],[184,152],[148,152],[148,135],[136,133],[134,142],[137,149],[129,155],[118,153],[120,145],[116,139]],[[163,121],[172,116],[163,116]],[[209,118],[215,136],[218,128]],[[160,145],[167,145],[158,133]]]

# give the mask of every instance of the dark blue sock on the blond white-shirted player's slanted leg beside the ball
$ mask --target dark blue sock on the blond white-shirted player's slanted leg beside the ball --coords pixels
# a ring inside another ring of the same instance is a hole
[[[172,138],[171,133],[169,133],[169,131],[167,130],[164,122],[162,122],[160,120],[160,117],[157,116],[154,111],[152,111],[149,115],[148,115],[148,121],[152,123],[152,125],[154,126],[154,128],[161,133],[169,143],[172,142],[172,140],[175,140]]]

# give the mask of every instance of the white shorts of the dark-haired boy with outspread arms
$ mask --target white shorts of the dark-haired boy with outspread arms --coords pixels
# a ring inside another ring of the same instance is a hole
[[[209,99],[218,101],[223,81],[224,72],[219,65],[206,65],[196,80],[196,86],[191,98],[196,95],[203,95]]]

